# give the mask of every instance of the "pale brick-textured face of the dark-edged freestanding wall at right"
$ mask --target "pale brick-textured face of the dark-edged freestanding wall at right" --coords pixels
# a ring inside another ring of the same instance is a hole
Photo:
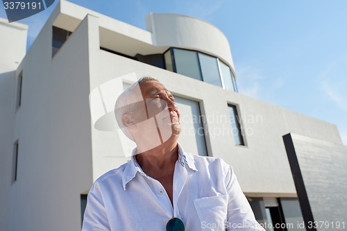
[[[291,140],[288,158],[307,230],[347,230],[347,146],[296,134]]]

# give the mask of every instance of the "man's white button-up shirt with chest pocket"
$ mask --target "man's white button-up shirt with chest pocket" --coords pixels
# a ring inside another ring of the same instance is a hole
[[[178,145],[173,205],[158,180],[135,157],[101,176],[90,189],[83,231],[164,231],[173,216],[185,230],[264,230],[239,187],[232,167],[214,157],[185,153]]]

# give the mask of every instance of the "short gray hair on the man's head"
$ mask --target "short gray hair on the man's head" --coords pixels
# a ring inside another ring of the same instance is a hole
[[[128,130],[126,130],[124,123],[122,121],[122,117],[126,113],[131,113],[136,110],[135,105],[135,94],[134,89],[137,85],[140,85],[141,83],[145,83],[148,81],[155,81],[159,83],[159,80],[156,78],[153,78],[152,76],[143,76],[139,80],[137,80],[135,83],[130,85],[128,88],[124,90],[118,97],[116,103],[115,103],[115,117],[118,123],[119,128],[124,132],[124,134],[131,140],[134,140],[133,137],[130,135]]]

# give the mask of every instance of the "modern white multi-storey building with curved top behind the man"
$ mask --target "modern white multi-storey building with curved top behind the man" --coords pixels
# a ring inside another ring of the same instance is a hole
[[[260,223],[303,230],[282,136],[344,153],[337,127],[237,92],[228,40],[211,24],[171,14],[146,24],[60,1],[25,54],[26,27],[0,22],[0,230],[81,229],[92,183],[133,146],[113,124],[115,99],[148,75],[176,97],[185,151],[232,165]]]

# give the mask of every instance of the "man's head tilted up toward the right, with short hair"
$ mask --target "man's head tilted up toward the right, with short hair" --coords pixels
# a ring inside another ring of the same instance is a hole
[[[115,116],[119,127],[137,144],[156,139],[160,144],[180,134],[180,112],[174,96],[157,79],[140,78],[117,99]]]

